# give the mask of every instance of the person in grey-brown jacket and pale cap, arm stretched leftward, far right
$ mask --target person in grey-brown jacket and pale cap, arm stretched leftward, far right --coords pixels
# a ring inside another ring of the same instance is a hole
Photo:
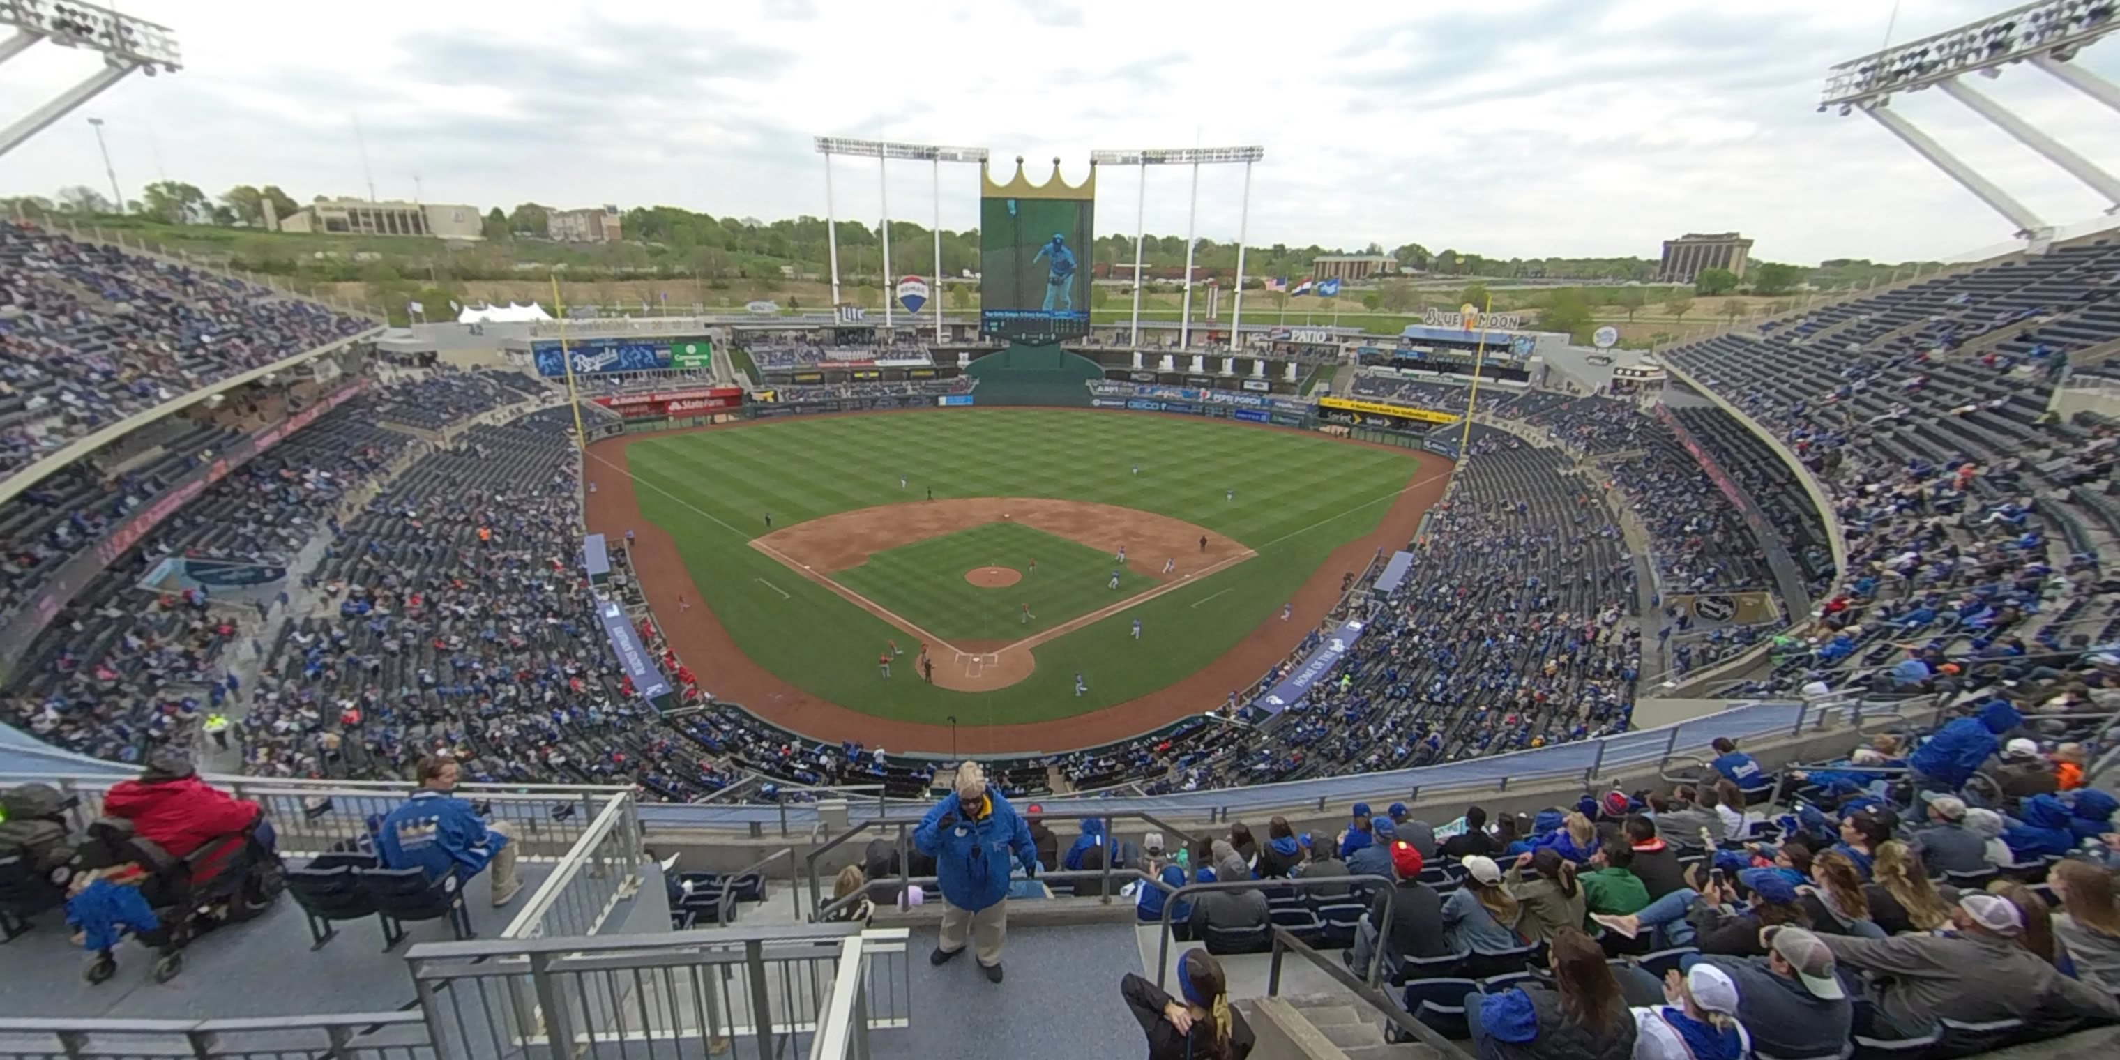
[[[2120,1003],[2069,979],[2025,948],[2025,914],[1999,895],[1967,893],[1950,912],[1950,935],[1887,939],[1821,937],[1834,960],[1874,975],[1880,1013],[1902,1028],[1944,1015],[1967,1024],[2120,1020]]]

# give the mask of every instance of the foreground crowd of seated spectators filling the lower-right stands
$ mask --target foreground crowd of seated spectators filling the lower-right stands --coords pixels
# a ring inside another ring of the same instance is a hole
[[[2114,734],[2103,719],[2050,731],[2033,712],[2095,676],[2067,670],[1967,689],[1969,712],[1912,742],[1880,736],[1779,776],[1717,740],[1698,780],[1537,814],[1357,803],[1336,829],[1276,816],[1138,848],[1085,827],[1064,856],[1064,835],[1039,844],[1039,869],[1100,869],[1109,850],[1153,880],[1132,888],[1138,920],[1223,960],[1278,926],[1355,975],[1374,962],[1389,996],[1476,1056],[2046,1041],[2120,1022],[2120,799],[2080,767]],[[1967,784],[1976,770],[2001,784]],[[1170,897],[1208,882],[1257,886]]]

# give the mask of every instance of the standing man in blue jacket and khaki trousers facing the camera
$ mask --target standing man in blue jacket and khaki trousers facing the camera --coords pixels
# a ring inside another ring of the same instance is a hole
[[[1001,948],[1009,937],[1009,859],[1024,876],[1039,873],[1039,848],[1030,827],[999,791],[986,787],[986,770],[969,761],[956,770],[956,791],[935,803],[914,846],[935,859],[941,884],[941,943],[929,965],[941,965],[969,943],[986,979],[1001,982]]]

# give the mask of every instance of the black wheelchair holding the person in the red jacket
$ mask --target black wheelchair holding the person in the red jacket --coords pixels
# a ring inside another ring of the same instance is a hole
[[[286,890],[286,865],[271,848],[269,835],[269,825],[259,816],[237,833],[208,840],[191,854],[174,856],[159,844],[142,840],[131,820],[106,816],[89,825],[89,837],[74,854],[74,863],[81,869],[138,867],[140,897],[161,926],[136,937],[155,950],[155,982],[165,984],[184,971],[184,948],[193,939],[223,924],[254,920]],[[106,948],[89,958],[81,975],[102,984],[117,969],[117,954]]]

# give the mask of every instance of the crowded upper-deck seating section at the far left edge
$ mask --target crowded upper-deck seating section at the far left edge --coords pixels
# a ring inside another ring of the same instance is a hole
[[[373,326],[187,265],[0,223],[0,473]]]

